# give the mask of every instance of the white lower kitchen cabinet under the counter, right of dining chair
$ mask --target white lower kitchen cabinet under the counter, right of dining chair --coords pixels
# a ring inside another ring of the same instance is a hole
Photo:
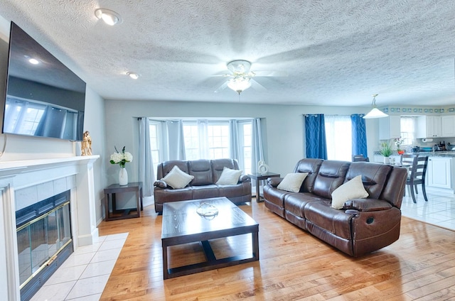
[[[430,187],[454,189],[452,181],[452,159],[448,157],[429,157],[426,184]]]

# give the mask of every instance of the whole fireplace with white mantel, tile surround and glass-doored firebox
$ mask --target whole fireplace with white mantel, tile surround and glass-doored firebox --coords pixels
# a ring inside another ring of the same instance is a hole
[[[0,269],[0,292],[4,300],[26,300],[22,296],[26,289],[31,294],[73,250],[97,241],[95,206],[99,201],[95,201],[93,165],[98,158],[0,161],[0,244],[5,246],[0,248],[0,262],[6,263]],[[48,230],[43,230],[45,226]],[[30,240],[32,236],[37,239]],[[54,251],[58,256],[49,255]],[[32,278],[41,280],[37,284]]]

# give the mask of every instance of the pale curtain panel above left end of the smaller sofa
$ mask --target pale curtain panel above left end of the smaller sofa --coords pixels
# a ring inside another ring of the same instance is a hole
[[[167,120],[167,160],[186,160],[183,123],[181,120]]]

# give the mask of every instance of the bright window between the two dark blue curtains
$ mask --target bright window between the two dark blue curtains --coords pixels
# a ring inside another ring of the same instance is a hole
[[[350,116],[326,115],[327,158],[352,160],[352,123]]]

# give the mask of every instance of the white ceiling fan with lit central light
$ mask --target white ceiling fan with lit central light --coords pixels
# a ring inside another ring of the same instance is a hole
[[[253,72],[251,70],[251,62],[247,60],[232,60],[231,62],[228,62],[227,66],[230,73],[218,76],[230,77],[230,79],[221,84],[221,86],[215,90],[215,93],[222,91],[226,87],[234,90],[239,95],[249,87],[253,87],[259,91],[265,91],[266,89],[262,86],[262,84],[255,81],[253,77],[287,76],[280,75],[277,72]]]

